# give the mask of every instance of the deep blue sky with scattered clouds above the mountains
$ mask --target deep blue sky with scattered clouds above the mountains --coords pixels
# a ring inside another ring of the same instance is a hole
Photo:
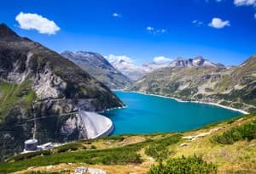
[[[9,0],[0,22],[59,53],[125,55],[137,65],[201,55],[239,65],[256,53],[255,7],[256,0]]]

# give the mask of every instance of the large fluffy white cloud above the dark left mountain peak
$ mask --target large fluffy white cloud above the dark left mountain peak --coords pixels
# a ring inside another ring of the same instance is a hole
[[[24,14],[20,12],[15,18],[24,30],[37,30],[41,34],[54,35],[61,28],[53,20],[48,20],[39,14]]]

